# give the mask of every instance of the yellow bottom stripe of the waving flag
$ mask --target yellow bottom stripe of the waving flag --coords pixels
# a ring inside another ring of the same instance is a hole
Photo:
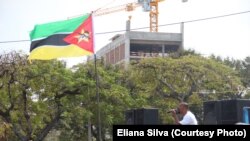
[[[50,60],[55,58],[79,57],[91,54],[92,52],[86,51],[73,44],[67,46],[45,45],[32,50],[28,59]]]

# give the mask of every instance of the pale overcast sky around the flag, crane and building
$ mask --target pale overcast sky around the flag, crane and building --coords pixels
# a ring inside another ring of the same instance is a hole
[[[35,24],[67,20],[98,8],[108,8],[134,0],[0,0],[0,42],[29,40],[29,32]],[[159,3],[159,25],[200,18],[250,11],[250,0],[165,0]],[[149,26],[149,13],[138,7],[134,12],[116,12],[94,18],[96,33],[125,30],[128,16],[132,16],[131,28]],[[149,31],[144,29],[141,31]],[[180,25],[163,26],[159,32],[180,32]],[[123,32],[121,32],[123,33]],[[96,50],[109,43],[118,33],[98,34]],[[186,49],[194,49],[208,56],[244,59],[250,56],[250,12],[235,16],[185,24]],[[29,41],[0,43],[0,53],[11,50],[29,53]],[[74,65],[85,57],[67,59]]]

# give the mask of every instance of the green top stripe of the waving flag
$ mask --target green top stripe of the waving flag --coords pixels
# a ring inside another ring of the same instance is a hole
[[[35,28],[30,33],[30,39],[34,40],[34,39],[39,39],[39,38],[45,38],[50,35],[61,33],[61,32],[63,33],[73,32],[88,17],[89,17],[89,14],[86,14],[84,16],[69,19],[69,20],[36,25]]]

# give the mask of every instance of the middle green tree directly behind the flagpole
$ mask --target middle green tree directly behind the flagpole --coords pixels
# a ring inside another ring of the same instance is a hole
[[[63,101],[67,107],[67,115],[58,130],[62,131],[60,140],[80,140],[87,138],[88,119],[90,118],[93,137],[97,139],[98,103],[96,98],[95,67],[93,62],[79,64],[73,68],[75,87],[80,93],[71,97],[70,103]],[[124,111],[130,108],[134,100],[130,97],[124,84],[124,72],[113,66],[97,63],[98,88],[100,95],[102,140],[112,137],[112,125],[124,123]],[[65,99],[69,100],[69,99]],[[67,103],[67,104],[66,104]],[[74,109],[75,111],[72,111]],[[68,132],[71,131],[71,132]]]

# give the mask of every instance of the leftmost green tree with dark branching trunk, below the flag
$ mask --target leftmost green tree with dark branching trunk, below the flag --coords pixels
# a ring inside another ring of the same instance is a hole
[[[27,62],[12,52],[0,56],[0,116],[21,141],[41,141],[64,112],[62,99],[80,94],[65,63]]]

